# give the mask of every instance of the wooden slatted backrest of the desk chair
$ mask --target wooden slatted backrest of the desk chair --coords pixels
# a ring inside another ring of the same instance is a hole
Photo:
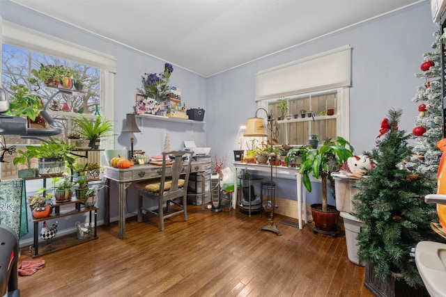
[[[162,152],[162,176],[160,181],[160,195],[164,199],[168,200],[170,198],[177,198],[183,196],[185,191],[187,191],[187,183],[189,182],[190,175],[190,164],[192,163],[192,154],[194,152],[188,152],[183,150]],[[183,161],[183,156],[188,156],[187,161]],[[169,161],[169,156],[174,156],[174,163],[167,165]],[[170,177],[167,174],[170,169]],[[183,176],[184,185],[178,188],[178,179]],[[164,183],[166,182],[166,177],[171,179],[171,187],[169,190],[164,191]]]

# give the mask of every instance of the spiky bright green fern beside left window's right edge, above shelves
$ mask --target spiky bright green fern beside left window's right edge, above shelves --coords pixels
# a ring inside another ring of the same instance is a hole
[[[82,115],[82,118],[75,118],[74,122],[77,133],[88,139],[90,141],[89,146],[94,149],[98,149],[98,142],[101,137],[112,135],[109,132],[113,131],[113,122],[105,120],[101,116],[98,116],[95,120],[89,120],[85,115]]]

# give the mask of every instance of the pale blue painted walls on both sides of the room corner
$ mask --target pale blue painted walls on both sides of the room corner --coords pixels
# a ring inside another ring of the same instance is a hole
[[[117,59],[118,73],[114,88],[116,148],[128,147],[130,136],[120,134],[125,113],[132,112],[140,76],[144,72],[161,72],[164,61],[49,19],[10,1],[0,1],[0,15],[7,21],[76,42]],[[172,148],[181,147],[184,140],[194,140],[199,146],[212,147],[213,156],[226,155],[226,164],[230,165],[238,127],[244,125],[246,119],[252,117],[256,111],[256,72],[342,45],[351,45],[353,87],[350,101],[350,140],[357,154],[371,150],[380,122],[392,107],[403,109],[400,129],[412,131],[418,112],[417,104],[413,104],[411,99],[415,95],[415,88],[424,84],[424,81],[414,75],[420,72],[422,55],[431,51],[431,44],[434,42],[432,34],[436,29],[437,26],[431,22],[429,1],[425,1],[208,79],[178,66],[174,67],[171,85],[182,89],[183,102],[187,107],[201,107],[206,110],[206,125],[194,125],[194,130],[190,131],[189,125],[145,120],[140,126],[142,134],[135,134],[135,149],[157,154],[162,150],[165,134],[169,131]],[[296,28],[296,35],[300,30],[305,28]],[[282,182],[279,189],[279,196],[288,196],[291,199],[295,197],[293,182]],[[116,191],[111,192],[111,216],[116,217],[117,209],[113,207],[117,205]],[[129,188],[131,199],[128,211],[135,211],[135,192],[134,188]],[[309,200],[317,201],[314,197],[316,191],[309,195]],[[102,204],[99,206],[99,218],[102,218]],[[74,222],[75,220],[68,221],[65,225],[72,226]]]

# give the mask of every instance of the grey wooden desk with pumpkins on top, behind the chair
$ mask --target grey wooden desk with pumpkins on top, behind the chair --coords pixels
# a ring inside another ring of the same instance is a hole
[[[192,161],[190,172],[201,172],[204,175],[206,170],[205,162]],[[157,179],[161,177],[162,166],[152,164],[134,165],[126,169],[113,168],[105,166],[104,177],[106,178],[107,187],[105,191],[105,218],[104,224],[110,223],[110,180],[114,180],[118,186],[118,226],[119,239],[125,237],[125,204],[127,201],[127,189],[132,182],[139,182],[146,179]],[[202,188],[204,189],[204,178]],[[204,195],[201,196],[201,209],[204,209]]]

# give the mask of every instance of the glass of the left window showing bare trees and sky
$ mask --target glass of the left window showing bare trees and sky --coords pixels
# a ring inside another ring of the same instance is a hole
[[[96,109],[100,109],[100,70],[88,65],[79,63],[72,63],[61,58],[48,56],[35,51],[27,49],[20,49],[10,45],[2,45],[3,60],[2,60],[2,76],[1,82],[9,94],[11,86],[18,86],[24,84],[35,95],[41,97],[45,106],[47,104],[49,112],[56,112],[58,114],[52,115],[54,120],[63,127],[63,134],[56,136],[59,140],[68,142],[68,134],[72,131],[72,115],[76,113],[94,114]],[[40,64],[44,65],[69,65],[77,70],[82,77],[85,77],[84,88],[82,92],[73,92],[72,95],[66,93],[59,93],[55,95],[57,90],[45,88],[43,83],[39,86],[31,86],[28,79],[32,77],[31,69],[38,70]],[[70,113],[62,113],[61,107],[64,103],[70,106]],[[35,128],[35,126],[31,126]],[[48,138],[41,137],[41,140],[47,141]],[[5,150],[2,147],[10,147],[16,145],[17,150],[25,150],[24,145],[40,145],[41,141],[37,139],[28,139],[20,136],[1,136],[0,137],[0,156]],[[17,168],[13,166],[13,159],[17,156],[17,152],[9,154],[6,152],[3,156],[3,163],[1,163],[1,176],[17,175]]]

